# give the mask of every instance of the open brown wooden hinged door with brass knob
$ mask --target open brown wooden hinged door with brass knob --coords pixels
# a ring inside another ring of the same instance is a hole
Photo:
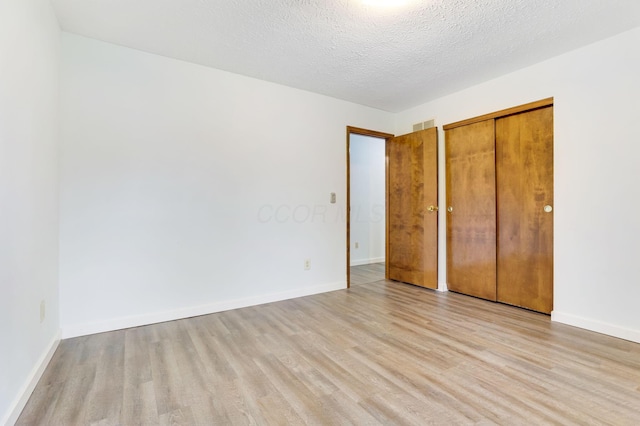
[[[438,287],[438,132],[387,140],[387,276]],[[433,211],[429,207],[433,206]]]

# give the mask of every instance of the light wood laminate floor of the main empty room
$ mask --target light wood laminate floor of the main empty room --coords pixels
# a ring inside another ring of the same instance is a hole
[[[640,345],[378,280],[61,342],[18,425],[638,425]]]

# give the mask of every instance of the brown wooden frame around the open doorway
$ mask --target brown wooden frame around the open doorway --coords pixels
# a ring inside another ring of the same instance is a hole
[[[385,151],[387,142],[393,138],[391,133],[378,132],[376,130],[362,129],[360,127],[347,126],[347,288],[351,288],[351,135],[371,136],[374,138],[384,139]],[[385,259],[389,257],[389,204],[388,204],[388,192],[389,181],[387,170],[389,168],[388,158],[385,158]],[[389,278],[389,269],[387,268],[387,262],[385,262],[385,278]]]

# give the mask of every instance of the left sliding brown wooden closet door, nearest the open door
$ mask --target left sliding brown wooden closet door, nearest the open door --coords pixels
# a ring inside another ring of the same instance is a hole
[[[496,300],[494,120],[445,133],[447,287]]]

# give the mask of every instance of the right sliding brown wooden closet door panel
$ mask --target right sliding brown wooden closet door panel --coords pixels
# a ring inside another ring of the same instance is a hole
[[[553,309],[553,106],[496,120],[498,301]]]

